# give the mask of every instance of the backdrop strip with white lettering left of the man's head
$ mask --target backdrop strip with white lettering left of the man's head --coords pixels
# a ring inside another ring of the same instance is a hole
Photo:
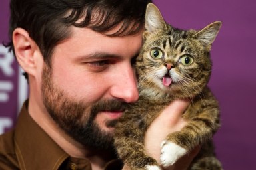
[[[27,98],[27,82],[15,57],[3,46],[9,41],[9,0],[0,5],[0,134],[15,125],[17,114]]]

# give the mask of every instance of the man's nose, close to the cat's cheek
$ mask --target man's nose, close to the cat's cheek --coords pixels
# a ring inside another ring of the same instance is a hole
[[[135,72],[131,66],[126,69],[117,70],[115,81],[111,88],[111,96],[123,102],[135,102],[139,98]]]

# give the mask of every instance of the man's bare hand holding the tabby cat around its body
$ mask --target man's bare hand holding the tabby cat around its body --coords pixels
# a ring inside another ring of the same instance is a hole
[[[181,114],[189,106],[189,101],[176,100],[172,102],[163,112],[153,121],[145,135],[146,151],[151,157],[160,160],[161,142],[172,132],[179,131],[187,124]],[[187,169],[193,158],[199,152],[199,147],[195,148],[191,153],[181,157],[175,165],[169,167],[171,170]]]

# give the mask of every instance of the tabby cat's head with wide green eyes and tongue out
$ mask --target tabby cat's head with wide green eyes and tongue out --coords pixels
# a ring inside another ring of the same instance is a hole
[[[137,58],[139,90],[149,96],[193,97],[211,75],[211,44],[217,21],[195,31],[171,27],[152,3],[147,6],[143,48]]]

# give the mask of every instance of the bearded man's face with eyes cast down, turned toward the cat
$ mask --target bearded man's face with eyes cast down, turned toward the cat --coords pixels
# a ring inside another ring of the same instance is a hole
[[[131,59],[141,48],[141,33],[111,38],[86,28],[72,31],[55,47],[51,68],[43,66],[43,102],[73,139],[106,149],[122,104],[138,98]]]

